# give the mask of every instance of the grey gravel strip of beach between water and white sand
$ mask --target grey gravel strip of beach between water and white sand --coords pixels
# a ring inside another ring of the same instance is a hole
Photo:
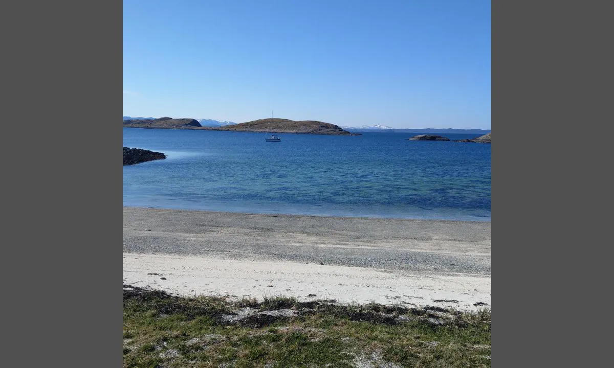
[[[123,207],[126,253],[491,274],[491,223]]]

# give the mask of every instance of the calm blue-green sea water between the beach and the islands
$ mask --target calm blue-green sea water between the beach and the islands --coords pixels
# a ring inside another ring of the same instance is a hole
[[[362,136],[123,128],[168,158],[123,167],[123,205],[228,212],[491,220],[491,145]],[[444,134],[449,139],[475,134]]]

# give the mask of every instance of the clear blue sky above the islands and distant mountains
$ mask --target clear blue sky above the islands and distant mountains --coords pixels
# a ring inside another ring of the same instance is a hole
[[[123,1],[123,115],[491,129],[491,2]]]

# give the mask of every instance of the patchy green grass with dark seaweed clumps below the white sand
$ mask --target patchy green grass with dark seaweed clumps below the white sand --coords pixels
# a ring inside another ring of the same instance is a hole
[[[491,366],[487,308],[264,299],[182,298],[123,285],[123,366]]]

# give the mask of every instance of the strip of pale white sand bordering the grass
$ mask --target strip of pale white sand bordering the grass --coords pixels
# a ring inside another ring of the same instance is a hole
[[[159,274],[159,275],[153,275]],[[166,280],[161,280],[161,277]],[[209,256],[123,253],[123,283],[180,296],[296,296],[405,306],[491,304],[491,277],[257,261]],[[269,286],[272,285],[272,286]],[[308,297],[315,294],[315,297]],[[435,302],[438,299],[454,302]]]

